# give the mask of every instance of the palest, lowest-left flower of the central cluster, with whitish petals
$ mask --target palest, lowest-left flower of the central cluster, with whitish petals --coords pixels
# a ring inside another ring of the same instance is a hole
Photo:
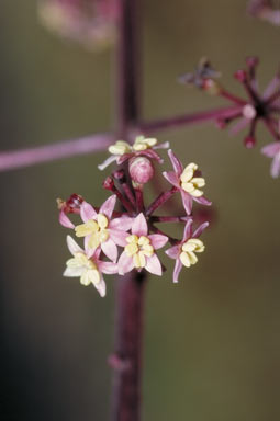
[[[67,246],[72,258],[66,262],[64,276],[80,277],[80,283],[85,286],[93,284],[101,297],[104,297],[105,282],[102,273],[117,273],[117,265],[112,262],[103,262],[99,260],[101,253],[100,249],[89,255],[88,252],[85,252],[70,236],[67,236]]]

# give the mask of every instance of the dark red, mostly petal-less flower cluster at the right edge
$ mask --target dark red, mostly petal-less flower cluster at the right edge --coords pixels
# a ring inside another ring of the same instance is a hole
[[[277,73],[267,88],[261,93],[256,79],[256,68],[258,66],[257,57],[246,58],[246,68],[235,72],[235,78],[243,84],[247,94],[246,99],[239,98],[228,92],[214,79],[213,69],[210,65],[206,70],[202,71],[199,67],[194,73],[187,73],[187,77],[181,78],[182,82],[198,86],[198,78],[202,78],[203,83],[199,88],[206,92],[214,93],[229,101],[231,107],[220,111],[215,115],[216,126],[225,128],[232,124],[229,133],[238,134],[240,130],[248,128],[248,133],[244,138],[244,145],[250,149],[256,145],[256,127],[258,122],[262,122],[272,136],[273,143],[264,147],[261,152],[270,158],[273,158],[271,166],[271,175],[279,177],[280,174],[280,75]],[[193,77],[191,78],[191,75]],[[235,123],[234,123],[235,122]]]

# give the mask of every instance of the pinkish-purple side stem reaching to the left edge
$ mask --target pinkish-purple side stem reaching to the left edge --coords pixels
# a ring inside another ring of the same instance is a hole
[[[114,140],[111,134],[97,134],[35,148],[0,152],[0,172],[105,150]]]

